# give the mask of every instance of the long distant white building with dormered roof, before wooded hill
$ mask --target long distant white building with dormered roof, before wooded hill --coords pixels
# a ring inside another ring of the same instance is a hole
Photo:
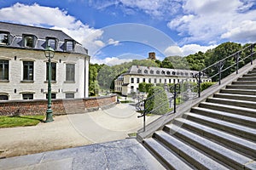
[[[159,67],[147,67],[132,65],[131,69],[119,76],[114,81],[114,91],[121,92],[123,95],[138,93],[140,82],[153,83],[177,83],[183,80],[196,82],[193,77],[198,71],[166,69]],[[201,77],[201,82],[211,82],[206,75]]]

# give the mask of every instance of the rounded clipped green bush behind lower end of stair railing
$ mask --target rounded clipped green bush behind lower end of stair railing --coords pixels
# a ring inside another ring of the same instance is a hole
[[[161,87],[149,88],[145,103],[146,113],[163,115],[170,111],[166,91]]]

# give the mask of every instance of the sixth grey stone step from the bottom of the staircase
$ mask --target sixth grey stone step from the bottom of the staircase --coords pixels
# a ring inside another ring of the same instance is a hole
[[[202,108],[202,107],[193,107],[191,109],[192,113],[200,114],[202,116],[210,116],[226,122],[234,122],[239,125],[253,127],[256,129],[256,118],[251,116],[241,116],[224,111],[216,111],[212,109]]]

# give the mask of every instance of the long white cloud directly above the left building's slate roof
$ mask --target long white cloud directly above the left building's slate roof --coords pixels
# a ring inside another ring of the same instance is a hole
[[[40,6],[37,3],[32,5],[15,3],[11,7],[0,8],[0,20],[30,26],[47,26],[64,31],[80,42],[84,48],[88,48],[90,55],[95,54],[96,51],[108,44],[119,45],[119,42],[114,41],[113,38],[110,38],[108,42],[103,42],[104,31],[84,25],[80,20],[67,14],[67,11]]]

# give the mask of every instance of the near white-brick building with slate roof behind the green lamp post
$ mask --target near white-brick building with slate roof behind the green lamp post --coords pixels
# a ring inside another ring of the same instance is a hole
[[[52,98],[88,97],[87,49],[63,31],[0,22],[0,100],[47,99],[48,59],[52,59]]]

